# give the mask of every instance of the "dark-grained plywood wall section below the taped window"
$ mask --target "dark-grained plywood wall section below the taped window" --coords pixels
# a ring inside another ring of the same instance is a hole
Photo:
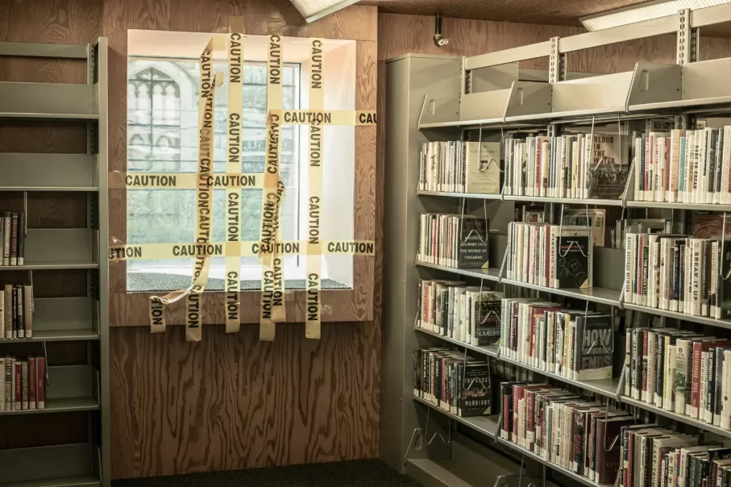
[[[377,331],[325,326],[111,332],[113,477],[174,475],[377,455]],[[368,350],[367,353],[362,353]]]

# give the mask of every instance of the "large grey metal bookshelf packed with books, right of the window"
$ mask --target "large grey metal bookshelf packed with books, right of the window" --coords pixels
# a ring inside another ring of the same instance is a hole
[[[694,117],[701,114],[731,113],[731,85],[723,73],[731,68],[731,57],[711,61],[697,60],[698,32],[703,26],[731,21],[731,4],[697,10],[684,9],[678,15],[646,20],[618,28],[587,32],[560,39],[555,37],[534,45],[469,57],[405,55],[387,61],[387,116],[389,134],[386,142],[387,177],[385,191],[385,299],[382,326],[382,432],[381,456],[395,468],[409,471],[404,451],[409,453],[414,434],[422,432],[425,410],[435,409],[417,399],[413,393],[412,353],[415,348],[433,346],[435,340],[463,348],[466,353],[495,357],[537,374],[550,377],[619,402],[647,410],[698,429],[731,437],[731,431],[676,415],[654,404],[624,396],[620,380],[578,382],[542,371],[500,356],[494,348],[474,347],[441,334],[414,328],[417,315],[418,281],[461,275],[488,285],[504,288],[529,288],[571,299],[594,302],[621,310],[635,310],[651,315],[677,318],[702,325],[731,329],[731,321],[684,315],[624,303],[621,287],[624,279],[622,250],[597,249],[594,256],[594,288],[591,290],[553,289],[508,280],[504,277],[504,245],[491,248],[491,269],[453,269],[415,261],[418,242],[418,215],[422,212],[455,212],[455,202],[498,205],[490,210],[491,229],[505,231],[507,221],[518,204],[543,202],[555,213],[562,204],[580,207],[653,208],[657,210],[731,212],[731,205],[686,204],[682,202],[634,201],[632,191],[621,199],[593,200],[513,195],[480,195],[416,190],[419,183],[419,152],[423,142],[475,139],[480,129],[482,141],[500,141],[507,129],[542,129],[550,135],[567,124],[617,123],[674,117],[678,128],[692,128]],[[568,53],[591,47],[610,45],[643,37],[677,34],[676,64],[637,62],[632,71],[617,74],[586,75],[567,78],[565,58]],[[520,70],[518,63],[548,57],[548,83],[538,83]],[[716,115],[717,116],[717,115]],[[630,175],[630,177],[632,177]],[[627,188],[632,188],[631,180]],[[485,211],[487,213],[487,210]],[[474,213],[473,213],[474,214]],[[481,212],[480,212],[481,214]],[[502,237],[504,239],[504,237]],[[491,242],[492,243],[492,242]],[[599,263],[597,263],[599,261]],[[621,261],[622,265],[619,265]],[[414,265],[415,264],[415,265]],[[417,406],[417,407],[414,407]],[[436,410],[439,410],[436,407]],[[449,413],[440,410],[444,415]],[[470,421],[461,425],[481,431]],[[447,430],[430,431],[445,434]],[[428,438],[427,438],[428,440]],[[504,444],[504,440],[497,440]],[[511,445],[507,445],[511,446]],[[513,449],[520,448],[512,445]],[[531,452],[521,451],[526,460],[544,464],[566,480],[594,486],[586,478],[564,472]],[[455,460],[455,454],[450,457]],[[424,461],[420,459],[419,461]],[[452,465],[453,466],[453,465]],[[422,469],[423,470],[423,469]],[[420,475],[424,472],[421,471]],[[570,482],[569,482],[570,483]],[[439,485],[452,485],[448,482]],[[459,483],[453,485],[472,485]]]

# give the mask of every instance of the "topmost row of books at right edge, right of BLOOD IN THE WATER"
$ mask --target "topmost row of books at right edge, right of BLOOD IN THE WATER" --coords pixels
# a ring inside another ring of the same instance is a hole
[[[731,203],[731,126],[635,139],[635,201]]]

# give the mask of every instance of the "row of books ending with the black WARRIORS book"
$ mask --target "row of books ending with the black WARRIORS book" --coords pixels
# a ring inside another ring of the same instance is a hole
[[[414,396],[462,418],[492,413],[488,361],[447,348],[414,351]]]

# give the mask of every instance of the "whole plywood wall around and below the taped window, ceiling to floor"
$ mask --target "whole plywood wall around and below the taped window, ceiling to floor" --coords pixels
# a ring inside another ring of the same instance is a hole
[[[126,29],[224,32],[228,15],[243,15],[249,34],[367,41],[357,46],[357,104],[375,109],[374,7],[349,7],[306,24],[287,0],[105,0],[110,169],[126,168]],[[356,231],[366,239],[380,232],[374,224],[375,142],[374,129],[357,129],[363,216],[356,215]],[[124,191],[110,192],[110,212],[125,207]],[[124,218],[110,223],[110,234],[126,234]],[[359,296],[371,296],[374,288],[379,295],[373,259],[355,264],[368,271],[357,287],[371,290]],[[110,274],[116,291],[111,324],[120,327],[110,331],[113,478],[377,456],[379,323],[327,323],[319,341],[305,340],[301,325],[281,325],[273,343],[258,341],[258,326],[243,326],[238,335],[206,326],[202,342],[186,343],[182,327],[150,334],[147,296],[124,293],[124,264],[113,264]],[[374,315],[372,299],[343,296],[323,292],[334,310]],[[288,299],[287,315],[303,319],[303,304],[301,293]],[[204,294],[203,306],[205,323],[224,321],[221,293]],[[258,321],[259,294],[243,294],[242,309],[247,321]],[[170,315],[182,322],[182,303],[171,306]]]

